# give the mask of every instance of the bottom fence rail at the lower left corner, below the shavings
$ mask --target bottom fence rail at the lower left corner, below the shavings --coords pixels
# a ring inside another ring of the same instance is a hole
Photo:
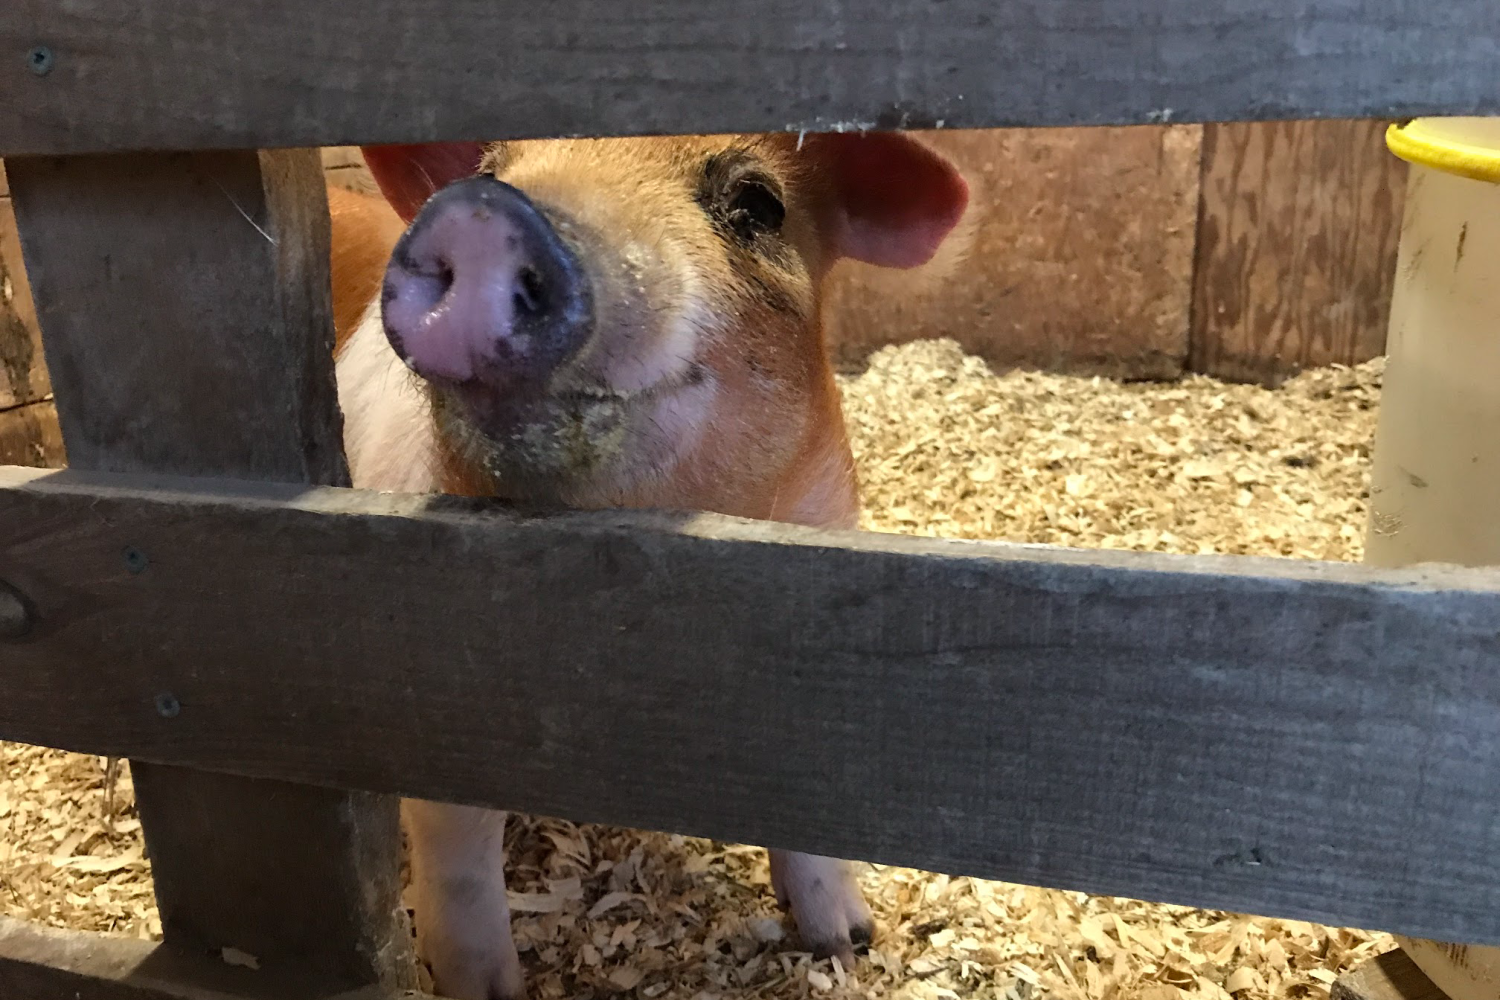
[[[0,916],[6,1000],[428,1000],[423,994],[280,978],[135,939],[44,928]]]

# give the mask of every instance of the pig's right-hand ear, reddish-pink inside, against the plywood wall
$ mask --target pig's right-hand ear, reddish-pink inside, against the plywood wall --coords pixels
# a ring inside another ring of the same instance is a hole
[[[834,195],[840,256],[879,267],[921,267],[969,207],[969,184],[946,159],[900,132],[808,135]]]

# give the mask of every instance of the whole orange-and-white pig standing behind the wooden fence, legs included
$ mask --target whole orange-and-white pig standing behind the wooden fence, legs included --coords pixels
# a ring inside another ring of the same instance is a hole
[[[819,289],[914,268],[969,189],[903,133],[366,147],[330,192],[354,486],[854,528]],[[404,802],[417,948],[458,1000],[525,996],[504,814]],[[771,850],[804,946],[854,963],[850,865]]]

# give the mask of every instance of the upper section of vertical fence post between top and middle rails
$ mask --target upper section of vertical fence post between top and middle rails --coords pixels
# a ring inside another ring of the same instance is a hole
[[[8,169],[72,465],[348,483],[316,153]]]

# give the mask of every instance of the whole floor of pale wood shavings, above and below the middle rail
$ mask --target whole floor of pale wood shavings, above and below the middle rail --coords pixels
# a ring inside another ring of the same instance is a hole
[[[1276,391],[1011,373],[957,346],[843,378],[867,523],[1158,552],[1358,559],[1380,363]],[[0,744],[0,912],[158,936],[129,777]],[[513,819],[516,937],[536,997],[724,1000],[1329,994],[1380,934],[884,868],[856,969],[798,952],[764,853]]]

